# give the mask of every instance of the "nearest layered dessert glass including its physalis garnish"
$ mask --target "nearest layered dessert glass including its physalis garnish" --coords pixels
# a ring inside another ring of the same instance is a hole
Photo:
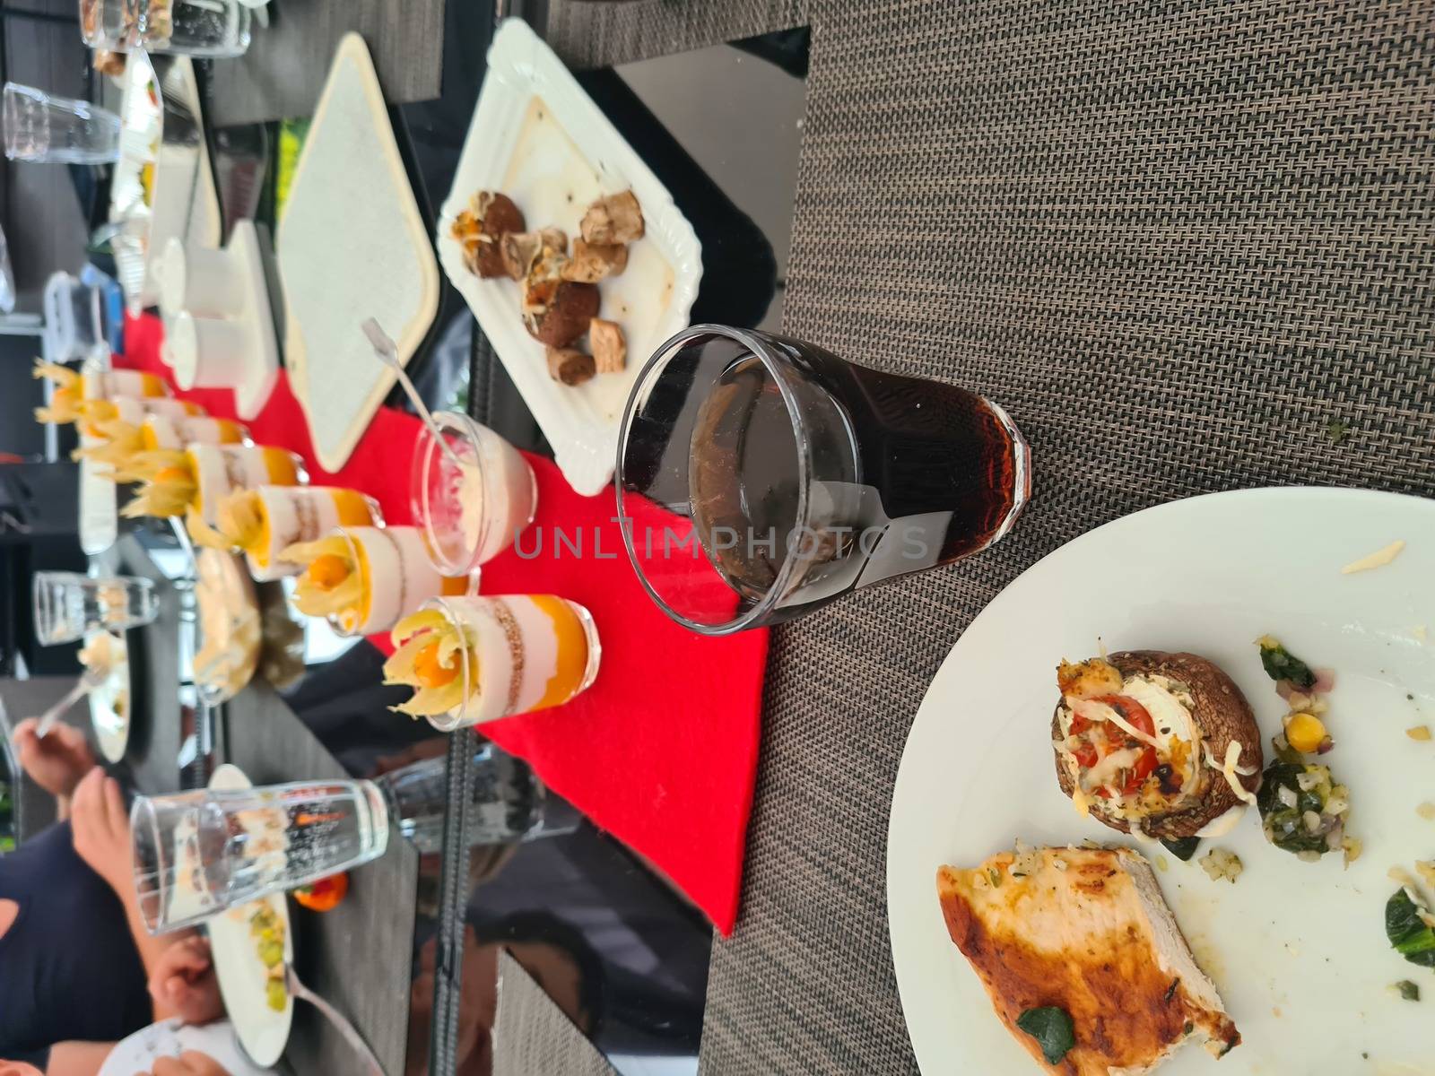
[[[395,707],[441,732],[563,706],[598,676],[593,615],[552,594],[435,598],[393,630],[385,683],[413,697]]]

